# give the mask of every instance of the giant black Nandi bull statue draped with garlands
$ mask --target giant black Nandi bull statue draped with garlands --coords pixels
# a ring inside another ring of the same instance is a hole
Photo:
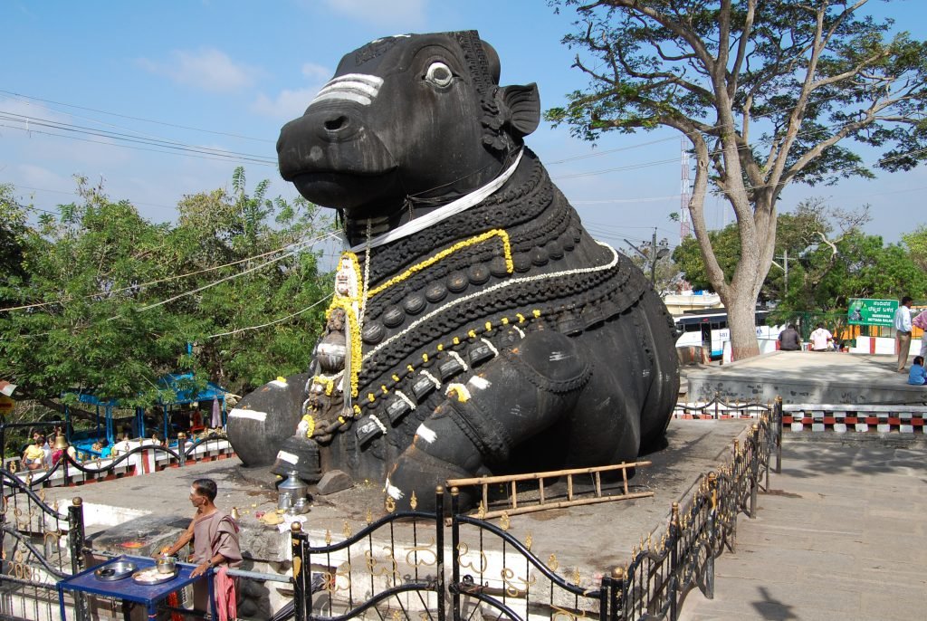
[[[537,86],[499,72],[473,31],[378,39],[283,128],[283,177],[353,247],[309,373],[231,414],[246,464],[340,469],[423,509],[448,478],[632,461],[663,437],[672,320],[524,146]]]

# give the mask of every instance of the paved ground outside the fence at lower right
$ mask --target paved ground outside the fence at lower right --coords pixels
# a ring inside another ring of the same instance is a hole
[[[927,619],[927,449],[788,442],[682,621]]]

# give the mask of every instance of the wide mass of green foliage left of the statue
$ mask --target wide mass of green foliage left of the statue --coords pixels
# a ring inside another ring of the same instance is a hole
[[[239,169],[231,196],[184,196],[175,225],[78,179],[81,200],[31,228],[3,190],[21,259],[4,255],[14,264],[0,299],[31,308],[0,310],[0,376],[36,399],[81,387],[133,406],[157,400],[169,372],[242,393],[305,369],[325,308],[312,305],[329,285],[318,253],[295,242],[331,222],[301,199],[266,198],[265,182],[249,196],[245,183]]]

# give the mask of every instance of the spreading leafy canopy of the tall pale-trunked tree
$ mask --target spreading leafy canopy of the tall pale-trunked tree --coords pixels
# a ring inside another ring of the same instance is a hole
[[[891,19],[857,16],[845,3],[812,7],[799,0],[733,0],[730,10],[707,0],[551,4],[575,8],[576,32],[563,42],[578,50],[576,67],[590,82],[545,116],[579,137],[669,125],[715,137],[738,133],[746,141],[743,129],[750,126],[756,165],[770,169],[768,156],[781,153],[792,169],[810,155],[794,170],[794,180],[807,184],[871,176],[834,138],[884,148],[876,165],[884,170],[909,170],[927,158],[927,127],[919,122],[927,103],[927,43],[908,32],[889,36]],[[816,39],[817,10],[830,32],[826,40]],[[717,124],[729,113],[732,125]],[[790,130],[794,144],[779,151]]]

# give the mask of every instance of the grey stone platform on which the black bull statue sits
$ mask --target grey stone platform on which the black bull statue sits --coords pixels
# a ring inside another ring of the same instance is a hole
[[[578,572],[584,585],[595,585],[604,572],[627,564],[632,547],[639,546],[641,539],[650,533],[659,539],[671,504],[690,498],[701,475],[729,462],[734,439],[743,438],[752,422],[673,420],[667,448],[641,456],[653,464],[639,468],[629,482],[630,491],[653,491],[653,497],[515,515],[510,518],[509,532],[521,541],[530,536],[531,551],[540,559],[555,555],[561,571],[568,570],[569,576]],[[291,566],[289,529],[286,525],[267,526],[257,518],[260,512],[274,511],[276,493],[255,485],[254,474],[243,472],[237,459],[44,491],[47,500],[57,500],[62,507],[75,496],[83,499],[87,532],[95,550],[147,555],[173,542],[188,523],[193,514],[187,498],[189,488],[200,477],[213,478],[219,484],[216,504],[220,508],[231,511],[237,507],[240,513],[242,548],[249,559],[242,568],[286,573]],[[335,494],[316,496],[303,527],[311,544],[321,546],[326,533],[338,541],[344,539],[346,531],[358,532],[366,526],[368,513],[374,518],[384,513],[379,482],[362,481]],[[427,528],[420,529],[418,545],[422,540],[433,540],[434,527]],[[397,525],[395,530],[397,541],[407,538],[411,544],[410,526]],[[375,549],[379,550],[381,543],[375,541]],[[275,610],[285,601],[287,585],[267,583],[267,587],[271,590],[270,609]]]

